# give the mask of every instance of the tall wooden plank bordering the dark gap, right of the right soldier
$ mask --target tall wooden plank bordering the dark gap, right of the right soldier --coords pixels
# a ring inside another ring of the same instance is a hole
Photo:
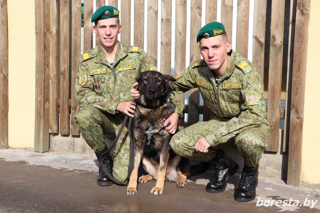
[[[284,34],[284,0],[272,1],[268,86],[270,138],[266,151],[277,152],[279,143],[280,95]]]

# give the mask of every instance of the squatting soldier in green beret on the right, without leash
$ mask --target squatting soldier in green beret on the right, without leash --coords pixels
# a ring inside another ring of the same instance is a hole
[[[231,49],[224,26],[212,22],[197,35],[203,57],[175,76],[170,89],[179,94],[198,88],[212,111],[209,121],[198,122],[176,133],[170,142],[178,155],[209,162],[214,175],[206,186],[222,192],[238,164],[221,149],[237,149],[244,159],[235,200],[252,201],[256,196],[258,168],[269,137],[269,123],[260,74],[246,58]],[[132,86],[132,97],[139,97]]]

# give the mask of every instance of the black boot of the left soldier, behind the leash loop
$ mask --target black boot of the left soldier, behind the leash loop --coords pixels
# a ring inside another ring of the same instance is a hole
[[[97,178],[97,184],[99,186],[110,186],[113,184],[112,180],[107,176],[107,174],[103,171],[102,166],[100,164],[100,157],[102,154],[107,151],[108,148],[105,147],[103,150],[100,152],[95,152],[97,158],[98,158],[98,163],[99,163],[99,176]],[[112,174],[112,167],[113,167],[113,161],[110,153],[106,154],[103,156],[103,164],[106,167],[106,170]]]

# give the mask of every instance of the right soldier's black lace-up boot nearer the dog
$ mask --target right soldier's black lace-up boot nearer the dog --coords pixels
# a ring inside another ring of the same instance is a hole
[[[214,176],[205,190],[210,193],[222,192],[227,186],[229,176],[236,173],[239,165],[220,149],[217,150],[216,156],[209,163],[214,166]]]

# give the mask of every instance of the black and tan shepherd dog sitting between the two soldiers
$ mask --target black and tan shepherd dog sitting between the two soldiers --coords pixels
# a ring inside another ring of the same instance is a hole
[[[134,165],[125,194],[137,194],[138,181],[146,183],[152,179],[156,180],[156,186],[150,194],[162,194],[165,179],[177,182],[177,187],[186,187],[190,171],[189,159],[172,151],[169,146],[172,134],[163,125],[175,110],[168,87],[176,80],[156,71],[141,72],[136,80],[140,97],[136,100],[131,125]],[[148,174],[138,180],[140,161]]]

